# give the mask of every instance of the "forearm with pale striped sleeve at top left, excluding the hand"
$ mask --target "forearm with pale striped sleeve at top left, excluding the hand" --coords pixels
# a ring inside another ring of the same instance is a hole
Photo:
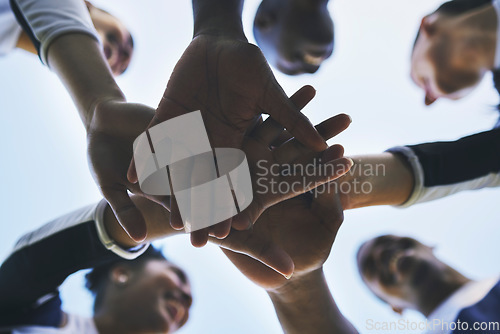
[[[11,7],[42,62],[68,89],[86,128],[99,101],[124,99],[83,1],[11,0]],[[25,37],[21,42],[30,48]]]

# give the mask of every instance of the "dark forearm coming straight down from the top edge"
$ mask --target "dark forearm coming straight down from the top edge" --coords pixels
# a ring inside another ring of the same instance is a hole
[[[194,37],[232,36],[246,41],[241,22],[243,0],[193,0]]]

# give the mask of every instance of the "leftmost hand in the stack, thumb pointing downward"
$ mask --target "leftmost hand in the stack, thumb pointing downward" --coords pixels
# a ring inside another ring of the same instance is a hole
[[[95,107],[87,132],[92,176],[120,225],[138,242],[146,238],[146,224],[127,191],[142,192],[138,184],[127,180],[127,168],[132,159],[132,143],[153,115],[154,109],[145,105],[106,100]]]

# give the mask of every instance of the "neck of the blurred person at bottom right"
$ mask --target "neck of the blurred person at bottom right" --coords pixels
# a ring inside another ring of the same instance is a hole
[[[432,279],[432,285],[426,286],[420,293],[418,311],[428,317],[448,297],[469,282],[471,282],[470,279],[446,266],[437,277]]]

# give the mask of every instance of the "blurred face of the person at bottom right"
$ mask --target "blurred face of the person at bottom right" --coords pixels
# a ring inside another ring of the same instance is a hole
[[[364,243],[358,268],[368,288],[401,313],[415,308],[419,291],[443,268],[433,249],[412,238],[385,235]]]

